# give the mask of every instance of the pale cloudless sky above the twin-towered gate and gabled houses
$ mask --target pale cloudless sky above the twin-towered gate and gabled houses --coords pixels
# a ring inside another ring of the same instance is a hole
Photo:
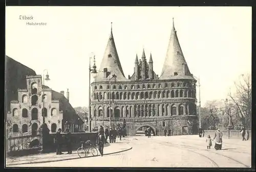
[[[125,77],[143,48],[160,76],[173,17],[189,70],[200,77],[202,106],[226,99],[233,82],[251,73],[251,7],[6,7],[6,55],[37,75],[47,69],[46,85],[69,89],[73,107],[88,106],[90,56],[99,68],[111,22]]]

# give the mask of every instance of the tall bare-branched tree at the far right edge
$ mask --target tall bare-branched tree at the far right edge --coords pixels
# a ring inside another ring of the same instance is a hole
[[[242,125],[251,129],[251,75],[241,75],[239,82],[234,82],[236,92],[228,94],[236,104]]]

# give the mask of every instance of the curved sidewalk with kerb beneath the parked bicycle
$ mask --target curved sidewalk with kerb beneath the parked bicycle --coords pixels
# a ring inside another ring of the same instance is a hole
[[[96,146],[96,148],[98,147]],[[126,142],[111,143],[110,145],[104,147],[103,156],[116,154],[116,153],[131,150],[131,149],[132,147]],[[6,158],[6,166],[8,167],[12,165],[46,163],[46,162],[55,162],[55,161],[65,161],[65,160],[71,160],[71,159],[80,159],[76,151],[73,151],[72,154],[66,154],[66,152],[64,153],[65,154],[63,155],[56,155],[56,153],[49,153],[49,154],[29,155],[29,156],[23,156],[23,157],[8,157]],[[98,152],[98,156],[100,156],[99,152]],[[89,154],[88,157],[86,158],[91,158],[91,157],[93,157],[92,154]]]

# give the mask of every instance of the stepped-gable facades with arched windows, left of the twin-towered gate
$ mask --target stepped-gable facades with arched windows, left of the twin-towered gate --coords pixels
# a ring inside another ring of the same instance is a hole
[[[7,113],[7,122],[10,129],[9,137],[20,135],[38,134],[38,129],[43,123],[43,108],[45,106],[45,123],[50,133],[62,128],[63,112],[59,109],[59,100],[52,100],[52,90],[48,87],[42,89],[41,76],[27,76],[27,88],[18,89],[18,100],[11,101]],[[45,94],[45,105],[43,103]],[[33,133],[35,132],[35,133]]]

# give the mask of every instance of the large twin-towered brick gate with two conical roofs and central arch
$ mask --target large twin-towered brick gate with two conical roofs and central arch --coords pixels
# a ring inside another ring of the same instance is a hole
[[[135,55],[133,75],[126,78],[112,29],[99,71],[104,72],[98,72],[91,84],[94,95],[91,111],[95,116],[92,119],[97,120],[97,125],[109,126],[111,115],[111,125],[125,119],[129,135],[135,135],[135,130],[145,124],[158,129],[162,135],[164,129],[171,129],[174,135],[182,134],[184,126],[188,134],[197,132],[197,80],[189,71],[174,24],[160,76],[154,71],[153,55],[150,54],[147,61],[143,49],[141,59]],[[113,75],[116,78],[109,81]],[[97,96],[99,94],[102,96]],[[92,128],[94,124],[92,121]]]

